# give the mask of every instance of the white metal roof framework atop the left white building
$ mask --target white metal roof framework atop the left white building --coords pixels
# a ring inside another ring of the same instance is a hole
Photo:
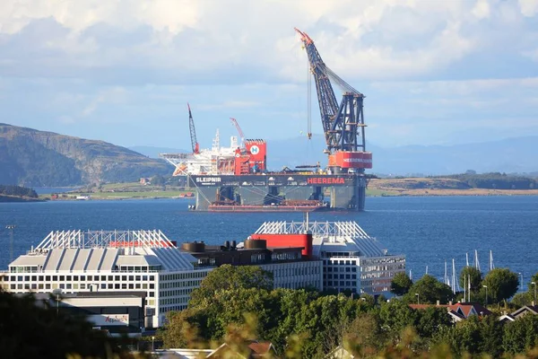
[[[139,231],[53,231],[34,251],[87,248],[175,248],[160,230]]]

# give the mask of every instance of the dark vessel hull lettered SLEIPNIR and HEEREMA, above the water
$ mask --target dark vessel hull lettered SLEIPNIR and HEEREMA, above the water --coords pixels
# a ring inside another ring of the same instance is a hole
[[[210,212],[311,212],[320,209],[360,212],[365,207],[367,183],[362,174],[297,173],[191,175],[187,182],[195,190],[194,209]],[[279,206],[284,199],[316,200],[325,203],[325,206],[285,208]],[[220,201],[233,204],[214,205]]]

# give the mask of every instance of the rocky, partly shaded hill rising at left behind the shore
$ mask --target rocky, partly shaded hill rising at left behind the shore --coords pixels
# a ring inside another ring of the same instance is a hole
[[[165,162],[115,144],[0,123],[0,184],[75,186],[169,171]]]

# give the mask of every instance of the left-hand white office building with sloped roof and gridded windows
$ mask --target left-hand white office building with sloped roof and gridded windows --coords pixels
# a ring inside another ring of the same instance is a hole
[[[187,307],[190,293],[213,267],[181,252],[161,231],[62,231],[13,260],[0,286],[13,293],[146,293],[147,325]]]

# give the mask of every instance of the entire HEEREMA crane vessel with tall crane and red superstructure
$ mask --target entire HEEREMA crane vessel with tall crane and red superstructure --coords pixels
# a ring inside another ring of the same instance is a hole
[[[174,176],[186,176],[195,188],[197,211],[214,212],[310,212],[323,210],[362,211],[365,207],[366,169],[372,153],[366,151],[363,114],[364,95],[325,66],[308,34],[295,29],[307,51],[310,72],[316,83],[317,101],[325,134],[328,163],[296,170],[267,169],[267,144],[263,139],[244,139],[235,118],[240,143],[231,137],[221,147],[219,133],[208,150],[200,150],[190,106],[189,128],[192,153],[161,153],[175,166]],[[343,90],[336,100],[333,81]],[[308,83],[309,86],[309,83]],[[311,120],[308,116],[308,139]]]

